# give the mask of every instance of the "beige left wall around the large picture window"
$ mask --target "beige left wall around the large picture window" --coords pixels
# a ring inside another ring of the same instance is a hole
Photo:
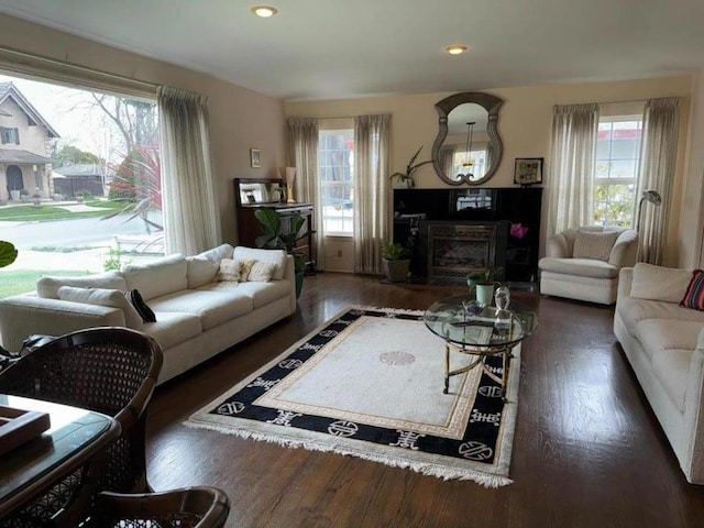
[[[237,242],[232,178],[276,177],[276,167],[284,165],[284,108],[278,99],[4,14],[0,14],[0,46],[208,96],[211,155],[226,242]],[[262,150],[262,168],[250,167],[251,147]]]

